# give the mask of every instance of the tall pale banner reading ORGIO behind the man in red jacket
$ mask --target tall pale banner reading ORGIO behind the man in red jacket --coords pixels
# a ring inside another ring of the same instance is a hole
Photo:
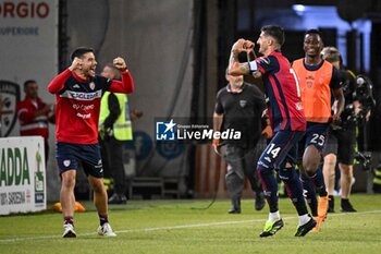
[[[25,81],[54,99],[46,87],[58,72],[58,0],[0,0],[0,136],[14,136]]]

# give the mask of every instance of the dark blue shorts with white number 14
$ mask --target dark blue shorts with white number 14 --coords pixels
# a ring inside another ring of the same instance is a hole
[[[296,145],[305,132],[279,131],[263,150],[258,168],[279,169],[285,159],[296,162]]]

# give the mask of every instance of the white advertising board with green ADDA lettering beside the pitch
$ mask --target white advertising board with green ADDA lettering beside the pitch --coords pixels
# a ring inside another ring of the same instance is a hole
[[[44,138],[0,138],[0,215],[47,208]]]

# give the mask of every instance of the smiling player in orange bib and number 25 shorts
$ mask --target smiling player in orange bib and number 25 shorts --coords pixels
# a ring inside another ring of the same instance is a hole
[[[340,121],[344,108],[344,95],[337,70],[321,59],[323,41],[317,29],[307,31],[304,38],[305,57],[293,62],[298,76],[302,101],[307,120],[305,137],[299,143],[299,157],[303,154],[300,177],[306,191],[307,203],[316,217],[319,231],[328,208],[328,193],[322,171],[319,168],[321,150],[327,140],[331,122]],[[337,102],[337,111],[332,114],[332,97]],[[319,202],[316,197],[319,194]]]

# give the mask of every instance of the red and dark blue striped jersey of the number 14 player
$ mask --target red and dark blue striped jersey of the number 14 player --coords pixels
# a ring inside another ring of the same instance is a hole
[[[259,70],[262,74],[273,131],[305,131],[300,89],[288,60],[280,51],[273,51],[267,57],[257,58],[249,65],[251,72]]]

